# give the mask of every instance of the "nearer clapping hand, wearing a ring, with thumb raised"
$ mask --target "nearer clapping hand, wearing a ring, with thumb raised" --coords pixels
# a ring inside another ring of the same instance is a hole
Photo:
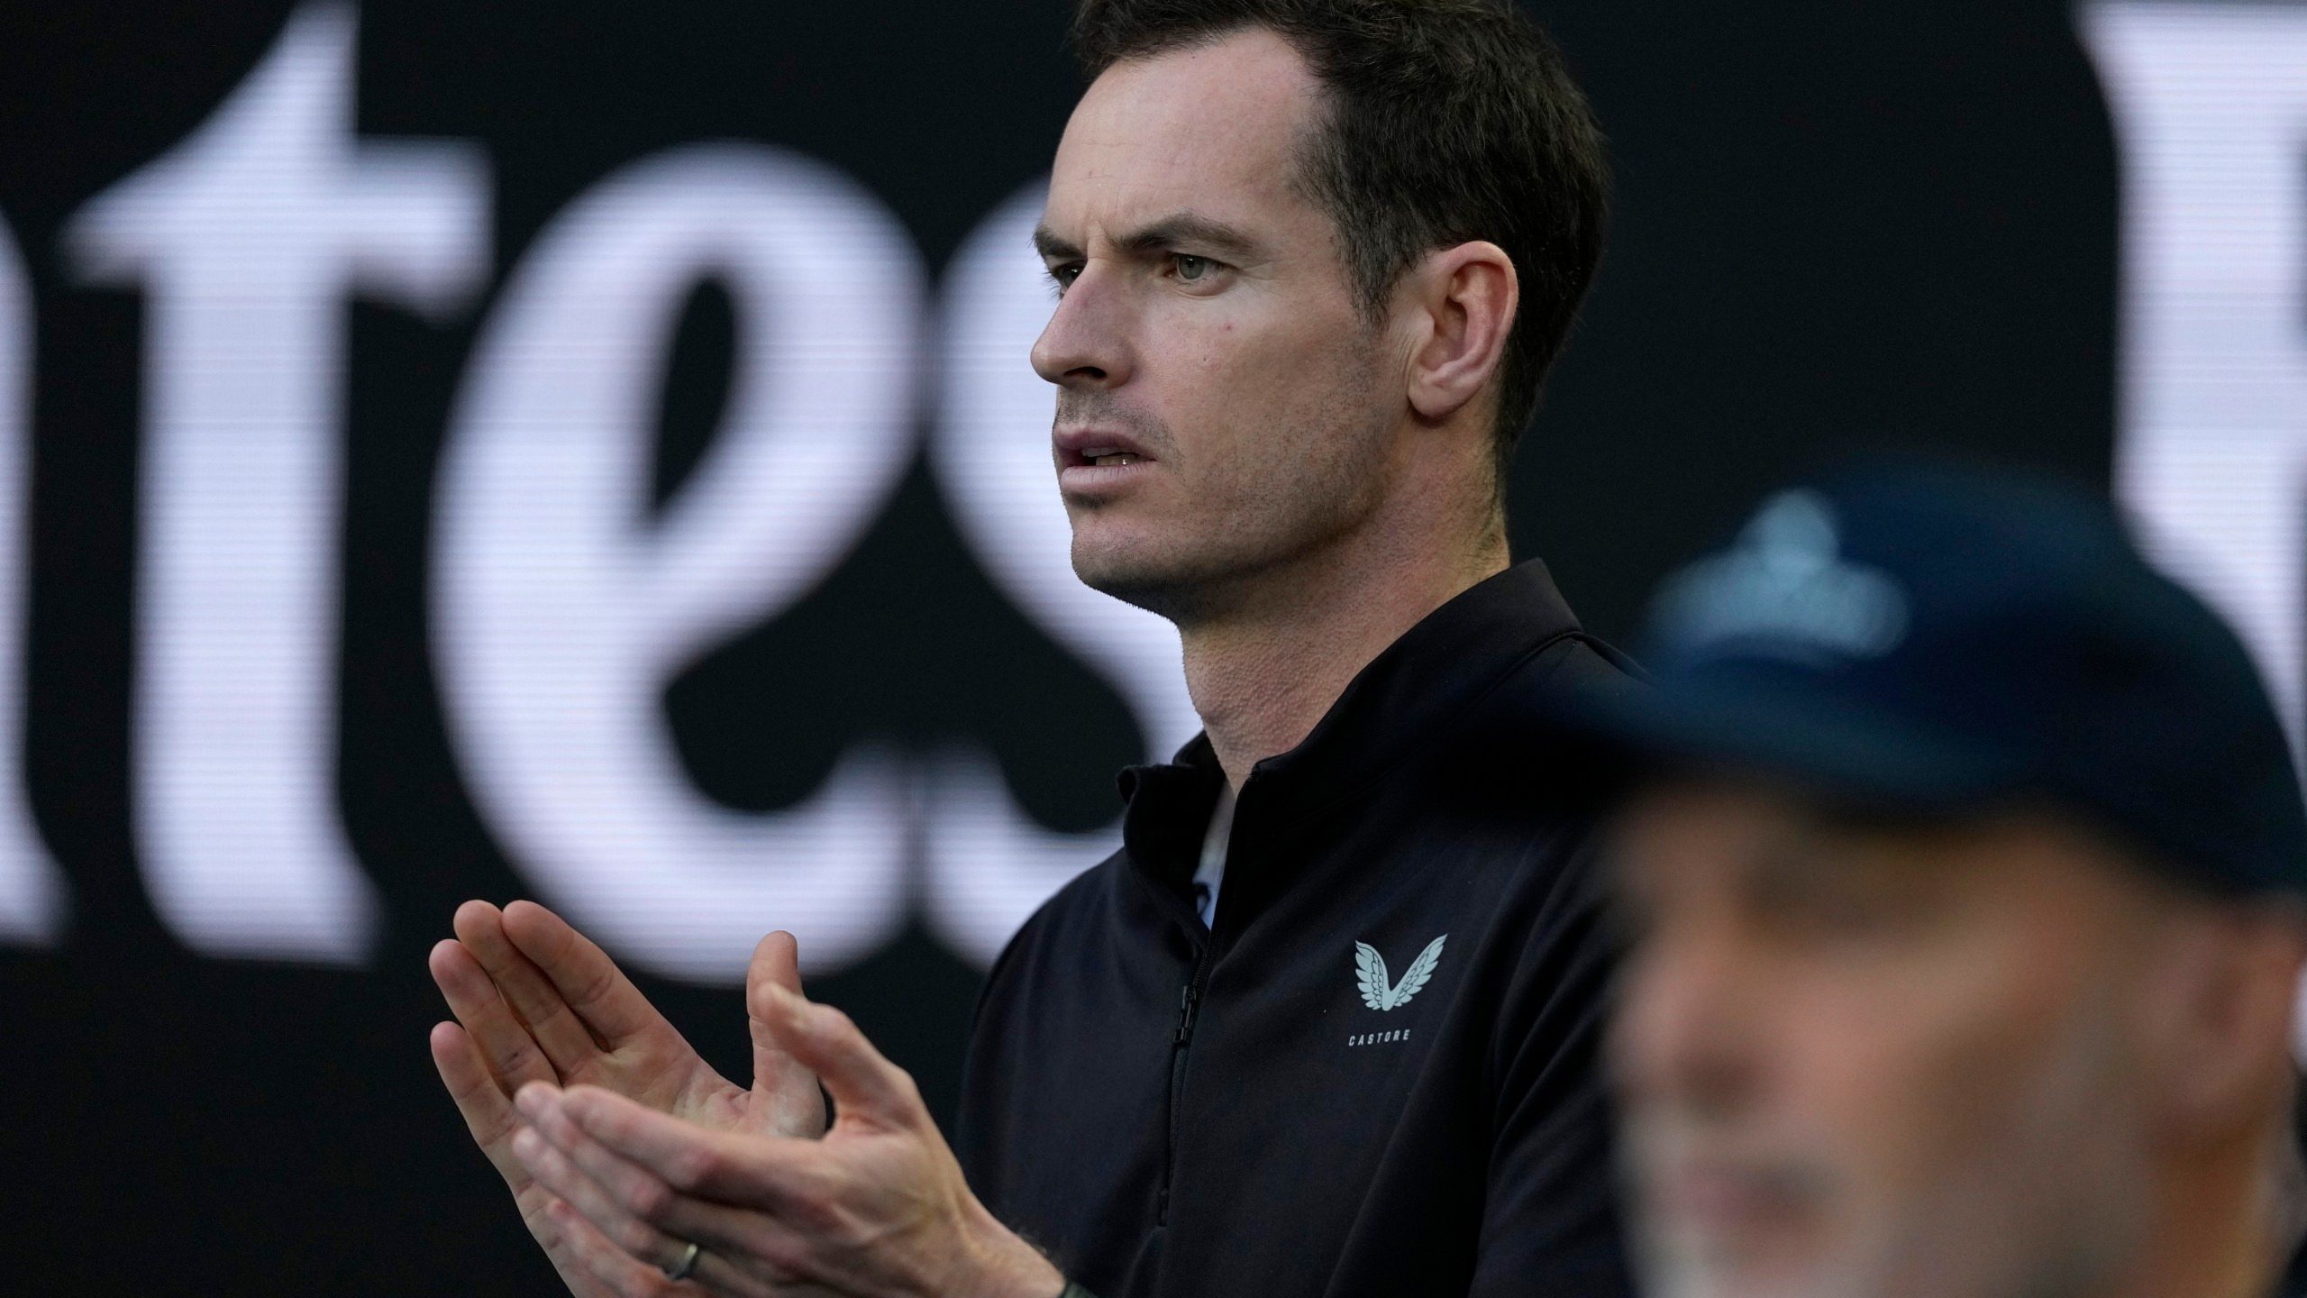
[[[595,1086],[519,1090],[528,1125],[512,1152],[549,1194],[544,1219],[595,1291],[1057,1298],[1066,1289],[969,1192],[914,1079],[849,1016],[773,979],[750,989],[747,1009],[757,1030],[824,1079],[837,1113],[824,1139],[711,1129]]]

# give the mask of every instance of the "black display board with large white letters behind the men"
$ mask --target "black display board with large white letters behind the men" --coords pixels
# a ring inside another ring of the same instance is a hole
[[[2307,714],[2307,7],[1534,5],[1620,164],[1511,490],[1590,626],[1788,473],[2113,485]],[[1195,730],[1027,365],[1059,0],[0,14],[0,1215],[35,1291],[551,1293],[466,896],[724,1067],[761,931],[946,1116]],[[1287,467],[1276,467],[1287,471]]]

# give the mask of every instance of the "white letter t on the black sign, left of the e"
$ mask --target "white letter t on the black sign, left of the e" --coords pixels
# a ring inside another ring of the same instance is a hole
[[[335,797],[344,296],[452,309],[484,275],[487,201],[471,148],[355,143],[353,14],[307,7],[69,231],[92,279],[148,293],[136,845],[201,952],[369,947]]]

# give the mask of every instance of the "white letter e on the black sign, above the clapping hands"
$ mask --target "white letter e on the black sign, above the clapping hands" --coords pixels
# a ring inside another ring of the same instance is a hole
[[[653,527],[657,379],[704,277],[738,309],[729,413]],[[904,917],[893,760],[856,753],[807,804],[736,813],[687,781],[662,691],[879,513],[914,453],[918,303],[914,245],[854,182],[692,148],[572,203],[466,374],[434,577],[457,751],[540,892],[657,972],[741,982],[771,928],[824,970]]]

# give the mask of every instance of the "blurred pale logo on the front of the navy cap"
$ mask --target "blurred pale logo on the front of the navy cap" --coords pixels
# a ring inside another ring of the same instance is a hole
[[[1906,624],[1899,582],[1843,559],[1834,506],[1806,490],[1765,501],[1730,552],[1691,564],[1659,596],[1661,635],[1691,656],[1880,658]]]

